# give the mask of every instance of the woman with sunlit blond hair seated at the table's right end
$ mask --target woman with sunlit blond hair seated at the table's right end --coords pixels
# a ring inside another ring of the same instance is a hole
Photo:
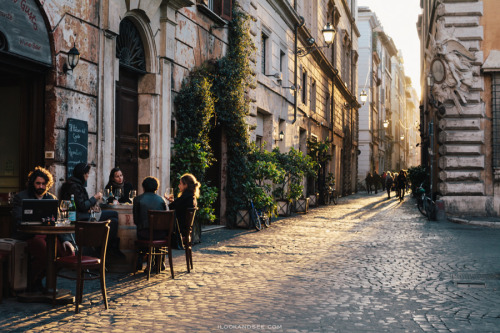
[[[189,208],[196,208],[196,199],[200,196],[200,183],[196,180],[196,177],[190,173],[182,175],[179,182],[179,195],[177,199],[166,197],[170,202],[168,204],[169,209],[175,210],[175,217],[181,235],[186,237],[188,228],[186,227],[186,213]]]

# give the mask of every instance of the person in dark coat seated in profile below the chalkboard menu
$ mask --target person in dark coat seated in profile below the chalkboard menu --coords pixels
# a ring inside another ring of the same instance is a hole
[[[97,192],[89,197],[85,187],[89,178],[90,165],[87,163],[78,163],[73,169],[73,176],[65,182],[61,188],[61,197],[64,200],[70,200],[71,194],[74,195],[76,205],[77,221],[88,221],[90,219],[90,208],[95,206],[102,199],[102,193]],[[110,220],[108,251],[111,257],[124,258],[120,251],[120,239],[118,238],[118,213],[114,210],[103,210],[99,221]],[[111,258],[112,259],[112,258]]]

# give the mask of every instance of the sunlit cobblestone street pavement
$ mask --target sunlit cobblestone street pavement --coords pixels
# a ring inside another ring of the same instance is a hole
[[[500,332],[500,229],[360,193],[261,232],[219,230],[169,274],[108,275],[74,307],[0,304],[2,331]]]

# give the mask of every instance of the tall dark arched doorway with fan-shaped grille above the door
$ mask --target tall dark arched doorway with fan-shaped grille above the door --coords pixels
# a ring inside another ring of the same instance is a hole
[[[124,18],[116,41],[120,60],[115,95],[115,166],[122,169],[127,181],[138,187],[138,114],[139,78],[146,73],[144,46],[133,22]]]

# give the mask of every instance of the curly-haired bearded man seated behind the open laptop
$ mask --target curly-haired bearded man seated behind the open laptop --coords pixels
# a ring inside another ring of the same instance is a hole
[[[42,279],[45,276],[45,266],[47,263],[47,244],[45,236],[20,233],[17,231],[17,226],[22,222],[22,202],[24,199],[57,199],[55,195],[48,192],[53,184],[52,174],[47,169],[36,167],[28,175],[28,188],[14,197],[12,216],[15,226],[12,228],[12,238],[25,240],[28,243],[28,252],[30,254],[28,281],[31,290],[42,288]],[[58,253],[60,256],[74,254],[73,235],[58,235],[58,241]]]

